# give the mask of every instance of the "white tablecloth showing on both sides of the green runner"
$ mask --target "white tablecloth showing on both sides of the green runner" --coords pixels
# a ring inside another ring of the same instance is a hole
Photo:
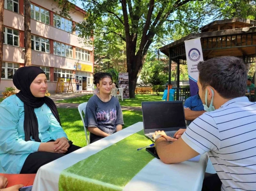
[[[42,166],[36,174],[32,191],[59,190],[59,176],[62,170],[142,129],[143,123],[136,123],[109,137],[105,137],[104,139],[96,141],[95,143]],[[135,177],[133,177],[123,190],[201,190],[207,161],[207,153],[201,155],[198,163],[186,161],[179,164],[168,165],[161,162],[161,160],[154,158],[138,174],[136,174]]]

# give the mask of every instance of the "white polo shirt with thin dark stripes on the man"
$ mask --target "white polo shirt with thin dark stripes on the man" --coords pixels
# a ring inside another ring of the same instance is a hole
[[[256,103],[231,99],[195,119],[182,139],[196,152],[208,152],[222,191],[256,190]]]

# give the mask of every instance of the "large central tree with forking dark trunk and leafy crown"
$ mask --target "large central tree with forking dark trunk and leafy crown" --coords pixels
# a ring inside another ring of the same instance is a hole
[[[111,38],[112,45],[118,38],[126,42],[129,93],[134,97],[136,81],[154,39],[165,39],[179,29],[179,25],[187,26],[186,30],[180,28],[184,34],[198,31],[199,23],[204,19],[204,12],[201,10],[205,2],[202,0],[83,0],[83,5],[87,19],[78,24],[81,36],[91,34],[93,31],[95,36],[103,34],[105,38],[111,33],[114,37]],[[184,15],[187,20],[184,20]]]

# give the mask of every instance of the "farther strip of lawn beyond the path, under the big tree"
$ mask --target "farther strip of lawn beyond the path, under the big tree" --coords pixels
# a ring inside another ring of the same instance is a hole
[[[136,98],[130,99],[119,99],[121,106],[133,106],[133,107],[141,107],[142,101],[161,101],[163,97],[163,93],[160,95],[156,94],[136,94]],[[88,101],[92,97],[92,94],[83,95],[76,98],[66,99],[57,101],[58,103],[73,103],[73,104],[81,104]]]

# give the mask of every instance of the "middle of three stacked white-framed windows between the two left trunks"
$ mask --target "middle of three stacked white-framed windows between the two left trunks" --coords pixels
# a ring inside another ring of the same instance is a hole
[[[19,31],[4,27],[4,44],[19,46]]]

